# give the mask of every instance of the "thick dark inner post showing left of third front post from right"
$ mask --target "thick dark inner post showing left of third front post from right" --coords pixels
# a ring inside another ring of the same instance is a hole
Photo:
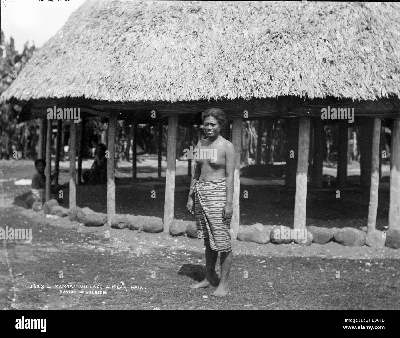
[[[296,168],[298,161],[298,119],[287,119],[284,127],[286,132],[285,187],[294,188],[296,187]],[[310,137],[310,132],[308,132],[307,135]],[[303,154],[301,155],[303,156]]]

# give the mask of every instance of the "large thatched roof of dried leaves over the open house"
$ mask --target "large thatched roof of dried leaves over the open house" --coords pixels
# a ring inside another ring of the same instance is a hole
[[[87,1],[2,99],[400,98],[400,5]]]

